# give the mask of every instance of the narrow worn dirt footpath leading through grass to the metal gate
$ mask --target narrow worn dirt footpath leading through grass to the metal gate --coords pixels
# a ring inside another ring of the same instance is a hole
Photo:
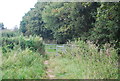
[[[44,61],[44,65],[46,66],[46,79],[57,79],[57,76],[55,76],[55,62],[52,62],[56,57],[56,50],[55,49],[48,49],[48,48],[56,48],[56,45],[46,45],[46,54],[48,56],[48,59]],[[52,53],[51,53],[52,52]]]

